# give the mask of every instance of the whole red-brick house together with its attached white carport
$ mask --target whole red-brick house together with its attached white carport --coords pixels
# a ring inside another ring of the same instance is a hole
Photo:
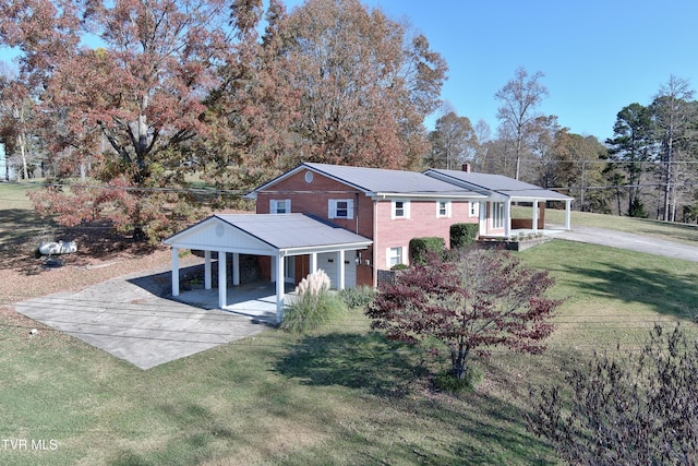
[[[546,201],[563,201],[569,229],[571,198],[496,175],[429,169],[424,172],[303,163],[250,192],[256,214],[213,215],[168,238],[172,295],[179,295],[179,249],[205,253],[206,289],[216,252],[219,304],[226,304],[226,263],[240,284],[240,256],[254,255],[263,278],[298,284],[322,268],[336,288],[377,285],[381,270],[409,264],[413,238],[441,237],[450,226],[479,224],[480,236],[508,237],[514,229],[542,229]],[[512,203],[532,206],[531,218],[512,218]]]

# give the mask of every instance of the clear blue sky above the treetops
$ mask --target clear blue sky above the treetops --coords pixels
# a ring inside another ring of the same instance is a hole
[[[302,0],[286,0],[289,10]],[[695,0],[363,0],[406,19],[448,62],[442,97],[497,127],[495,92],[518,67],[541,71],[539,110],[604,141],[626,105],[648,105],[670,75],[698,86]],[[8,61],[0,49],[0,60]]]

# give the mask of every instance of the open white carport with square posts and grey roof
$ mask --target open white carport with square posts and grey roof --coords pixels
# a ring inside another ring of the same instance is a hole
[[[240,285],[240,254],[272,258],[272,280],[276,282],[276,319],[284,315],[284,259],[310,255],[311,273],[317,270],[318,253],[337,254],[338,289],[345,288],[347,251],[365,249],[372,241],[327,222],[304,214],[217,214],[164,241],[172,248],[172,296],[179,296],[179,251],[204,251],[204,288],[212,289],[212,251],[218,253],[218,306],[228,301],[226,255],[232,254],[232,284]]]

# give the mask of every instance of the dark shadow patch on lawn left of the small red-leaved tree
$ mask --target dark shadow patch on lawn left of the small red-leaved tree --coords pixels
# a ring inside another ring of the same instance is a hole
[[[428,374],[413,348],[376,332],[306,336],[276,369],[309,385],[344,385],[388,396],[404,396],[416,379]]]

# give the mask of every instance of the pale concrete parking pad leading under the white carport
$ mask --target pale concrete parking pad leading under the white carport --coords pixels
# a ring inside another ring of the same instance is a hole
[[[169,272],[132,274],[14,308],[141,369],[255,335],[276,319],[276,291],[258,284],[231,289],[227,310],[215,309],[217,290],[184,291],[173,300],[169,289]]]

